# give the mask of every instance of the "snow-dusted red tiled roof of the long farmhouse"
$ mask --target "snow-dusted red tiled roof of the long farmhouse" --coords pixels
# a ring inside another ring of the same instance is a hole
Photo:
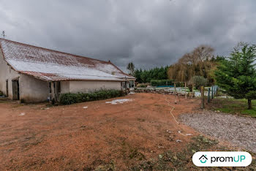
[[[135,79],[107,61],[75,56],[56,50],[0,39],[5,61],[15,71],[40,80],[112,80]]]

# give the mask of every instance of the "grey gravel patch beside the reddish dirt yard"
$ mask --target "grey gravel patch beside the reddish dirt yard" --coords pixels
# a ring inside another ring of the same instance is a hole
[[[211,111],[180,115],[183,123],[256,153],[256,119]]]

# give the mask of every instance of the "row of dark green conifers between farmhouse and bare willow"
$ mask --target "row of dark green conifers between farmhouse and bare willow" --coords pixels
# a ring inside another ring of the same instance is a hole
[[[135,69],[135,77],[138,83],[150,83],[151,80],[166,80],[168,66],[149,70]]]

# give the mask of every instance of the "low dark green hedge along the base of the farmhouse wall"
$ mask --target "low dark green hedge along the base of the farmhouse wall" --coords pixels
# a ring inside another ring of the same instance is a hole
[[[113,97],[124,96],[124,91],[118,90],[101,90],[95,91],[89,94],[61,94],[60,96],[60,103],[61,104],[75,104],[80,102],[90,102],[95,100],[102,100],[102,99],[110,99]]]

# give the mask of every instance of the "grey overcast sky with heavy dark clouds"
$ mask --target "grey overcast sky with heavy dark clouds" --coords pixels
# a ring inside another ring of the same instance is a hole
[[[0,0],[7,39],[104,61],[124,69],[173,64],[198,45],[228,55],[256,43],[256,1]]]

